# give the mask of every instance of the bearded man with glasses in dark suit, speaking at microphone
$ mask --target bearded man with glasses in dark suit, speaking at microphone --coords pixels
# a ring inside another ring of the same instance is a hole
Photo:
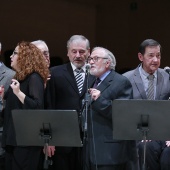
[[[125,170],[135,142],[114,140],[112,101],[131,99],[131,83],[115,72],[115,57],[105,48],[94,48],[88,63],[91,65],[90,74],[96,77],[96,81],[89,89],[92,101],[88,114],[86,169]]]

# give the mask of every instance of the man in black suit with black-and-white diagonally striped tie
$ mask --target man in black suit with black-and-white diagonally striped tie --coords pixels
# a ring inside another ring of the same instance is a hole
[[[47,109],[77,110],[80,115],[82,99],[86,92],[85,62],[90,55],[90,43],[82,35],[73,35],[67,42],[67,56],[70,62],[51,68],[51,79],[46,88]],[[77,80],[77,70],[79,81]],[[76,82],[78,81],[78,84]],[[81,170],[80,148],[49,147],[53,155],[53,169]]]

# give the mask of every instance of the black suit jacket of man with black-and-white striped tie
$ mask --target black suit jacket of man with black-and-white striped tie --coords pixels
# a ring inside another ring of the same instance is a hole
[[[87,78],[85,78],[82,93],[79,94],[71,64],[55,66],[50,69],[51,79],[46,88],[46,108],[77,110],[80,112],[82,99],[86,93]],[[94,79],[92,76],[90,80]]]

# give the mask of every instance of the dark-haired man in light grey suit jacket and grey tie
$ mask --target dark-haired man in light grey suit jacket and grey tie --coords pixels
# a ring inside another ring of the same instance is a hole
[[[161,45],[153,40],[144,40],[138,52],[141,64],[134,70],[123,74],[133,87],[134,99],[168,100],[170,97],[169,75],[161,68]],[[153,75],[153,98],[148,95],[148,76]],[[160,113],[161,114],[161,113]],[[170,141],[148,141],[146,143],[146,170],[169,170],[170,169]],[[167,147],[168,146],[168,147]],[[143,143],[139,143],[139,163],[142,170]],[[169,155],[169,156],[168,156]]]

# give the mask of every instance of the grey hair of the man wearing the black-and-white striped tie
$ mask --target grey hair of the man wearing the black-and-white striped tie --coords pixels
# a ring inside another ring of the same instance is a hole
[[[71,36],[70,39],[67,41],[67,48],[70,47],[71,43],[73,43],[73,42],[81,42],[81,41],[85,41],[86,42],[86,48],[90,49],[90,42],[83,35],[73,35],[73,36]]]

